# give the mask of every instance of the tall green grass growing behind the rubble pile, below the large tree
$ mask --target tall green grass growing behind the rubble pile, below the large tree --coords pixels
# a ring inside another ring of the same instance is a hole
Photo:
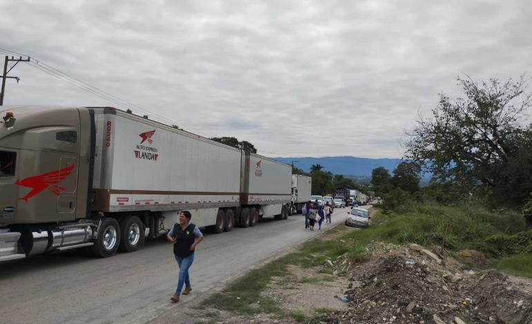
[[[497,234],[524,230],[524,219],[513,212],[491,212],[478,206],[449,207],[412,203],[400,213],[378,215],[368,229],[348,236],[359,245],[371,241],[439,245],[449,250],[484,251],[486,240]]]

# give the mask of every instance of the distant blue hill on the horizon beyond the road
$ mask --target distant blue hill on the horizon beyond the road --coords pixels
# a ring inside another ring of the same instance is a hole
[[[371,176],[372,170],[379,167],[386,168],[392,174],[401,163],[401,159],[368,159],[354,156],[274,157],[274,159],[287,164],[292,164],[294,161],[294,166],[305,172],[310,172],[312,165],[320,164],[323,165],[324,171],[345,176]]]

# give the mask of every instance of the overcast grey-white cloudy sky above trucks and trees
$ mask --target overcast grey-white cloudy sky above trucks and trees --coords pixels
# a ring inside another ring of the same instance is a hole
[[[0,48],[267,156],[401,157],[457,76],[531,75],[531,17],[526,0],[0,0]],[[6,105],[125,107],[28,64],[10,75]]]

